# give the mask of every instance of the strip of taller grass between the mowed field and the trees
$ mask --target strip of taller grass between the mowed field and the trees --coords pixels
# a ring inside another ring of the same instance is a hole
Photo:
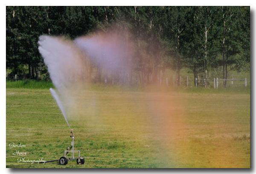
[[[26,88],[26,89],[49,89],[54,87],[51,81],[6,81],[6,88]],[[212,89],[211,87],[184,87],[184,86],[159,86],[159,85],[104,85],[104,84],[87,84],[87,90],[92,91],[130,91],[130,92],[181,92],[181,93],[247,93],[250,94],[250,84],[247,87],[220,87],[218,89]]]

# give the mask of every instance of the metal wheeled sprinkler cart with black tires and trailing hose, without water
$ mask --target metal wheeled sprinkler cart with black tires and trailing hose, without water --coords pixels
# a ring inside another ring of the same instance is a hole
[[[66,165],[68,161],[76,160],[76,163],[77,163],[77,164],[84,164],[84,157],[81,157],[81,156],[80,156],[80,151],[75,151],[75,148],[74,148],[74,139],[75,139],[75,136],[74,136],[74,130],[73,130],[73,129],[70,129],[70,137],[71,137],[71,139],[72,139],[72,142],[71,142],[70,147],[67,147],[66,150],[64,151],[64,156],[61,157],[60,159],[55,159],[55,160],[46,161],[45,163],[58,161],[58,163],[59,163],[60,165]],[[67,154],[68,154],[69,152],[72,154],[72,157],[71,157],[71,158],[67,158]],[[78,157],[75,157],[75,155],[74,155],[75,152],[78,153]]]

